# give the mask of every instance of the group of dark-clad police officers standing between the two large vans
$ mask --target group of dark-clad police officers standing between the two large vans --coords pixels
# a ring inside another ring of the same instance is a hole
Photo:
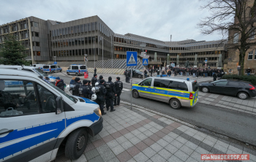
[[[83,80],[83,82],[80,81],[79,77],[73,77],[70,85],[74,85],[74,90],[72,90],[74,96],[92,99],[96,94],[97,99],[94,101],[99,104],[102,115],[106,114],[104,112],[105,104],[107,111],[110,109],[110,112],[116,111],[113,106],[120,104],[120,95],[123,89],[123,82],[120,81],[120,77],[116,77],[116,82],[112,82],[112,77],[108,77],[108,82],[106,82],[102,75],[97,79],[97,74],[94,74],[91,80]]]

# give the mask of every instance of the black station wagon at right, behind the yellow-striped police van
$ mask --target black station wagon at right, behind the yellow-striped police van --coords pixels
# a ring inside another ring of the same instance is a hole
[[[219,93],[229,96],[237,96],[239,99],[247,99],[256,96],[256,88],[250,82],[241,80],[217,80],[214,82],[200,82],[199,90],[204,93]]]

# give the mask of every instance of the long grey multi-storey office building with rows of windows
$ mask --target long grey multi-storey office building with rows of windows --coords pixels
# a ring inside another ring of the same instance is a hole
[[[189,60],[190,66],[204,66],[207,58],[207,66],[217,67],[222,66],[227,53],[226,41],[221,40],[164,42],[135,34],[115,34],[98,16],[65,23],[23,18],[0,26],[0,44],[7,34],[15,34],[26,47],[28,59],[35,62],[83,61],[84,54],[89,61],[125,59],[127,51],[143,50],[150,56],[150,65],[184,66]]]

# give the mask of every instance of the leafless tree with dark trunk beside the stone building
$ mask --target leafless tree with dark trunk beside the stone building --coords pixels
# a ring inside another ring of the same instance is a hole
[[[228,39],[228,48],[239,51],[240,74],[244,74],[244,58],[246,51],[255,41],[256,1],[255,0],[208,0],[202,9],[208,9],[211,15],[197,24],[203,34],[222,34]]]

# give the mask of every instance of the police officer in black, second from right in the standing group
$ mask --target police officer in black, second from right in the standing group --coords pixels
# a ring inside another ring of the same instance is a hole
[[[109,107],[110,107],[110,112],[113,112],[113,111],[116,111],[116,109],[114,109],[113,107],[113,99],[114,99],[114,96],[116,96],[116,88],[115,88],[115,84],[111,80],[112,80],[112,77],[108,77],[108,82],[105,83],[105,87],[107,89],[106,107],[107,107],[107,111],[109,110]]]

